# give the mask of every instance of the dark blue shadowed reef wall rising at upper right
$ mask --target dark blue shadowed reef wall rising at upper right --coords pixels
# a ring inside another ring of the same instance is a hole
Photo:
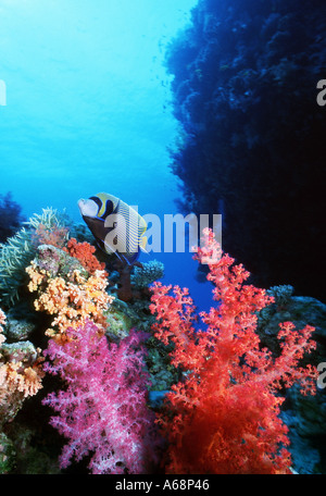
[[[200,0],[170,46],[185,212],[267,287],[325,299],[326,2]]]

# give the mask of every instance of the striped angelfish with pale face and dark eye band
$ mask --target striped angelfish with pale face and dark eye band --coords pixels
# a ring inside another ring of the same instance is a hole
[[[115,253],[123,263],[131,265],[146,251],[147,223],[145,219],[120,198],[99,193],[87,200],[78,200],[84,221],[101,250]]]

